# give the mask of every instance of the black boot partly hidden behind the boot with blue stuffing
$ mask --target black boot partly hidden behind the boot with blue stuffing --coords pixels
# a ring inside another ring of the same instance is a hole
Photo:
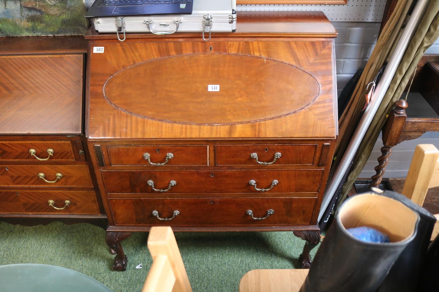
[[[400,193],[373,189],[385,197],[400,201],[419,214],[416,237],[407,245],[385,277],[377,292],[415,292],[424,265],[435,216]]]

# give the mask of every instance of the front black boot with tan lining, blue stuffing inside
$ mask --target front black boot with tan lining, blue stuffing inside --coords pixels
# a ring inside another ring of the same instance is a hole
[[[374,292],[401,252],[416,236],[419,215],[394,199],[362,193],[338,209],[317,250],[301,292]],[[390,243],[368,243],[346,229],[367,226]]]

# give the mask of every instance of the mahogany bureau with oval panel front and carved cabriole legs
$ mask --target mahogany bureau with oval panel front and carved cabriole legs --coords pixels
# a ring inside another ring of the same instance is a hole
[[[294,231],[309,267],[338,133],[337,32],[321,12],[237,19],[209,41],[86,35],[86,135],[115,270],[120,242],[154,225]]]

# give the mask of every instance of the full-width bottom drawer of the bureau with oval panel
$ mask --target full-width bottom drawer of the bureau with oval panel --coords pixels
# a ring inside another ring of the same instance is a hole
[[[310,224],[316,197],[260,199],[110,199],[116,225],[282,225]],[[255,220],[246,213],[263,218]],[[174,211],[180,214],[172,220]]]

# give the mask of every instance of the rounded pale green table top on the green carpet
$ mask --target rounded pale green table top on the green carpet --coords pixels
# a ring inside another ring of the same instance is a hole
[[[2,292],[112,292],[100,282],[64,267],[46,264],[0,266]]]

